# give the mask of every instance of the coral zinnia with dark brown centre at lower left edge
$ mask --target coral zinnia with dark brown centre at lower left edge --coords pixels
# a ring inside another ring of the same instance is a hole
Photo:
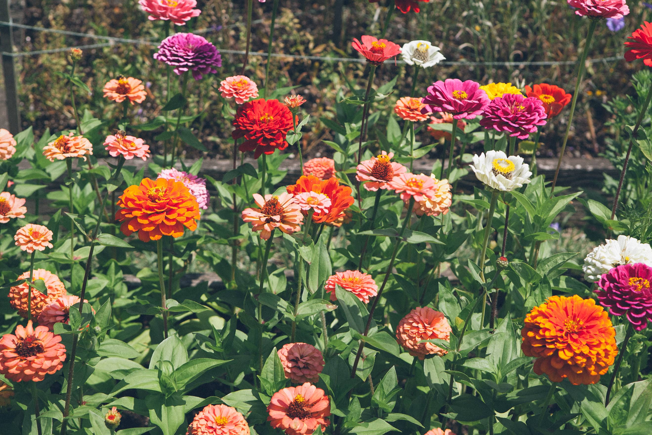
[[[14,382],[45,379],[63,367],[66,348],[60,343],[61,336],[54,335],[44,326],[16,326],[16,333],[0,338],[0,373]]]

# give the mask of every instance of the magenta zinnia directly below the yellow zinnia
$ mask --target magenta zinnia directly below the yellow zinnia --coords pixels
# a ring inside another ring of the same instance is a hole
[[[539,98],[526,98],[518,94],[504,94],[494,98],[482,116],[482,127],[504,131],[519,139],[527,139],[530,133],[537,131],[537,126],[546,123],[548,117]]]

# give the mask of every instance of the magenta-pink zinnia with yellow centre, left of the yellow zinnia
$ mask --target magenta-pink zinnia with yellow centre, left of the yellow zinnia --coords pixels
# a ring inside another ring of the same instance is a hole
[[[430,95],[423,98],[426,107],[421,112],[448,112],[454,119],[473,119],[482,114],[490,101],[486,92],[480,89],[480,83],[473,80],[440,80],[428,87],[428,93]]]

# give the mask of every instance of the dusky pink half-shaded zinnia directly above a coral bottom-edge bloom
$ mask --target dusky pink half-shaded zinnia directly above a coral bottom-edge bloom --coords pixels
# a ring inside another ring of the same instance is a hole
[[[286,378],[295,383],[319,380],[324,359],[319,349],[308,343],[288,343],[278,350]]]

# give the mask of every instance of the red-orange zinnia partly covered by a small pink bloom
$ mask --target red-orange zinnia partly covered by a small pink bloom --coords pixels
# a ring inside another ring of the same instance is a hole
[[[329,197],[331,207],[327,211],[319,211],[319,213],[312,215],[312,222],[318,224],[335,222],[339,218],[344,217],[344,210],[348,209],[355,201],[353,200],[353,196],[351,196],[353,190],[348,186],[340,186],[340,181],[335,177],[321,180],[314,175],[302,175],[297,180],[297,184],[288,186],[286,189],[288,193],[293,195],[302,192],[315,192],[323,193]],[[307,215],[308,212],[306,211],[304,214]]]

